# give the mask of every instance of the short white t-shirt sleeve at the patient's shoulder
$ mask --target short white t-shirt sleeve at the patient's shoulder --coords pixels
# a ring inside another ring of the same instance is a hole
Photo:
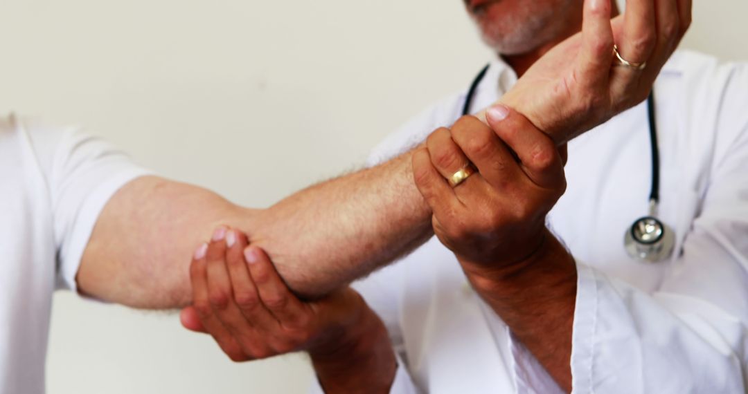
[[[57,137],[50,132],[29,130],[32,140]],[[117,190],[149,172],[123,151],[77,128],[65,129],[49,151],[51,160],[44,160],[42,168],[52,202],[57,287],[76,290],[76,273],[99,213]]]

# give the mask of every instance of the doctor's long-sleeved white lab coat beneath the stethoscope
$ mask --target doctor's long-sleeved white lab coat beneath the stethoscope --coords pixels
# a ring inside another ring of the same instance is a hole
[[[473,110],[515,81],[506,64],[491,63]],[[655,95],[659,216],[675,229],[672,259],[642,263],[623,248],[625,231],[649,213],[646,104],[569,143],[568,191],[549,215],[579,272],[574,393],[745,393],[748,66],[678,52]],[[451,125],[464,101],[465,93],[449,98],[409,122],[372,163]],[[393,393],[559,391],[438,240],[355,287],[398,351]]]

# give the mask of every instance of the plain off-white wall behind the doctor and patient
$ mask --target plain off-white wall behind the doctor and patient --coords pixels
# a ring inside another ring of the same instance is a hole
[[[748,1],[687,46],[748,60]],[[171,178],[265,206],[359,166],[490,54],[462,1],[0,0],[0,113],[76,122]],[[302,393],[300,356],[230,363],[169,313],[55,296],[49,393]]]

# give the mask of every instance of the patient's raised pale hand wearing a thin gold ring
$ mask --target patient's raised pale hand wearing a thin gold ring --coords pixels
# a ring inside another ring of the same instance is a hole
[[[613,20],[610,1],[585,0],[582,31],[544,54],[500,98],[557,143],[644,101],[690,26],[692,0],[627,0]],[[646,67],[616,65],[614,44],[625,60]]]

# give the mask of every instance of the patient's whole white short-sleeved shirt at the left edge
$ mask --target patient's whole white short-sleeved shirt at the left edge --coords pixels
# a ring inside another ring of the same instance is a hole
[[[76,289],[96,218],[145,173],[76,128],[0,117],[0,394],[44,393],[52,292]]]

